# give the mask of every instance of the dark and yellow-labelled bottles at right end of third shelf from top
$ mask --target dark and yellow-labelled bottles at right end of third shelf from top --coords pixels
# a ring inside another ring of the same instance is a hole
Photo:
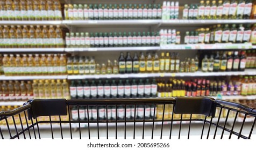
[[[246,64],[248,68],[254,68],[255,60],[246,59],[245,51],[232,51],[222,52],[220,54],[218,51],[215,55],[204,55],[202,59],[202,72],[218,72],[218,71],[245,71]]]

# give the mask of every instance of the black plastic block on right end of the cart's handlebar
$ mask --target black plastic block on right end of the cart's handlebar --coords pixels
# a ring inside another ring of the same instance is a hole
[[[176,97],[175,114],[201,114],[215,117],[216,102],[211,97]]]

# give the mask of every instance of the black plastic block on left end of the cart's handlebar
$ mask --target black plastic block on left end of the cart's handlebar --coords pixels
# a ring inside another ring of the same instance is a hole
[[[31,104],[31,109],[27,110],[29,119],[39,116],[67,115],[66,99],[34,99],[27,103]]]

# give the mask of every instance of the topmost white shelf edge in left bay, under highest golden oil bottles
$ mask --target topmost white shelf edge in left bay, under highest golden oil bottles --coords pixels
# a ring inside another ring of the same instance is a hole
[[[62,21],[0,21],[0,25],[62,25]]]

